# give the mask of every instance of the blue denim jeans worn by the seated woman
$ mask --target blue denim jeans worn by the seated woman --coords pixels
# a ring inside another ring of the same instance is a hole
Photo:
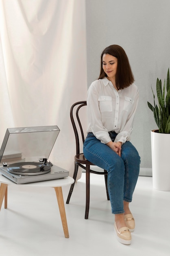
[[[111,140],[115,132],[109,132]],[[122,145],[121,157],[89,132],[83,146],[85,158],[107,170],[107,185],[113,214],[124,213],[123,201],[131,202],[139,176],[140,157],[130,141]]]

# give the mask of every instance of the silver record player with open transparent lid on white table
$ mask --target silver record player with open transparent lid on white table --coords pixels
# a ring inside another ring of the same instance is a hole
[[[68,177],[48,157],[59,135],[57,126],[8,128],[0,149],[0,173],[16,184]]]

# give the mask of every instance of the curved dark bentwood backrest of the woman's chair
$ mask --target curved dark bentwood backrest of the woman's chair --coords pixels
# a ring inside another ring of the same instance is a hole
[[[78,101],[78,102],[74,103],[70,108],[70,118],[71,118],[73,130],[74,130],[74,135],[76,138],[76,155],[80,154],[80,137],[81,137],[83,143],[85,141],[83,127],[81,124],[81,118],[79,117],[79,110],[83,106],[87,106],[86,101]],[[79,134],[80,134],[80,136],[79,136]]]

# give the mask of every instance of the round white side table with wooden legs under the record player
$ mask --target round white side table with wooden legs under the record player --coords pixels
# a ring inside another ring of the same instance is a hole
[[[62,186],[68,186],[72,183],[74,183],[74,179],[72,177],[65,177],[63,179],[57,179],[57,180],[47,180],[47,181],[41,181],[41,182],[32,182],[27,184],[15,184],[11,180],[7,179],[0,173],[0,209],[2,206],[2,202],[4,199],[4,208],[7,208],[7,188],[8,185],[13,186],[35,186],[35,187],[51,187],[54,188],[57,201],[59,205],[59,211],[61,216],[61,222],[63,225],[63,231],[65,238],[69,238],[68,233],[68,225],[67,225],[67,219],[65,214],[65,206],[64,206],[64,200],[63,200],[63,192],[62,192]]]

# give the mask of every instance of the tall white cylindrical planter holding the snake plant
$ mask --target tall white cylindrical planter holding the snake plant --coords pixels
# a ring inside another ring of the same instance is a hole
[[[153,188],[170,191],[170,134],[151,130]]]

